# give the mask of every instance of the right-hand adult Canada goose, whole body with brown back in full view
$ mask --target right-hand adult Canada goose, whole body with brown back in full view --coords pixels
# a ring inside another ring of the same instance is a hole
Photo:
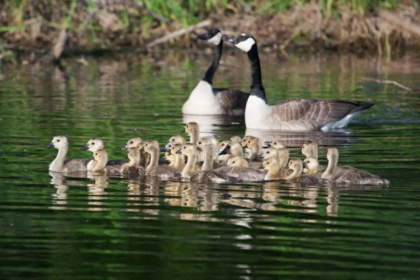
[[[257,41],[241,34],[223,38],[248,54],[251,62],[251,95],[246,102],[246,128],[255,130],[329,130],[342,128],[373,104],[352,100],[291,99],[269,105],[262,86]]]

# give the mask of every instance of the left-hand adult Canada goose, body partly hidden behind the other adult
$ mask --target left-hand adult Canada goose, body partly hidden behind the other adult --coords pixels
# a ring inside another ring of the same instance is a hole
[[[213,62],[204,77],[191,92],[190,97],[182,106],[182,113],[187,115],[244,115],[246,100],[249,94],[240,90],[215,89],[211,86],[214,73],[221,59],[223,49],[223,34],[218,29],[210,29],[197,38],[207,40],[216,45]],[[195,143],[195,142],[193,142]]]

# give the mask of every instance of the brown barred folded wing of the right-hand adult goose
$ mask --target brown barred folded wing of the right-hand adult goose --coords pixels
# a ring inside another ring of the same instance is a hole
[[[282,121],[306,120],[325,125],[371,106],[367,102],[343,99],[291,99],[272,105],[272,110]]]

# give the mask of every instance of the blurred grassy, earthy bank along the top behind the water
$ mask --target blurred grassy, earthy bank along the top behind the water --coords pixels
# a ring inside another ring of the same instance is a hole
[[[301,46],[389,57],[419,47],[418,34],[382,12],[420,26],[415,0],[12,0],[0,3],[0,58],[10,55],[8,49],[51,50],[63,30],[67,36],[62,40],[71,48],[146,48],[172,31],[209,19],[207,27],[253,34],[260,45],[282,51]],[[190,38],[183,34],[154,48],[190,48]]]

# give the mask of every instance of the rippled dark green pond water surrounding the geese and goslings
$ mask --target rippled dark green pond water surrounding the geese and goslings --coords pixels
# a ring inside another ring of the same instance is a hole
[[[261,55],[269,102],[295,97],[375,103],[346,130],[246,132],[241,118],[183,118],[181,106],[211,55],[87,57],[64,69],[0,65],[0,279],[418,279],[420,95],[362,77],[419,87],[420,59]],[[248,90],[246,55],[223,57],[214,85]],[[70,158],[102,137],[111,159],[127,139],[252,133],[297,148],[337,146],[340,164],[388,187],[289,183],[217,185],[153,178],[48,174],[69,137]]]

